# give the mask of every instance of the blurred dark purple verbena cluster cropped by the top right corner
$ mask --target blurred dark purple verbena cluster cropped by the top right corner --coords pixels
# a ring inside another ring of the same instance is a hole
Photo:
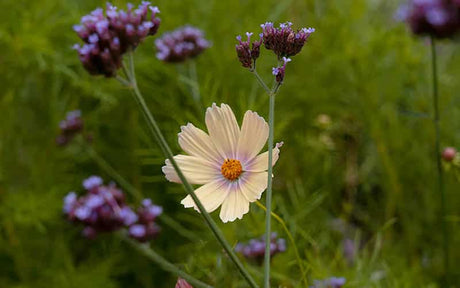
[[[416,35],[449,38],[460,32],[460,1],[411,0],[401,6],[397,17]]]

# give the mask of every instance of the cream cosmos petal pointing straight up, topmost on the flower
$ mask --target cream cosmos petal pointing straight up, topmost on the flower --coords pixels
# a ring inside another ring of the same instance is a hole
[[[240,128],[230,106],[215,103],[206,110],[206,126],[209,136],[220,155],[224,158],[235,159]]]

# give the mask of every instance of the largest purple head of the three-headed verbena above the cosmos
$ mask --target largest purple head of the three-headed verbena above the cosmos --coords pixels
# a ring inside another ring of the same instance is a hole
[[[272,50],[279,59],[298,54],[310,35],[315,32],[314,28],[302,28],[294,31],[291,22],[281,23],[279,28],[276,28],[271,22],[266,22],[260,27],[263,30],[262,37],[265,48]]]

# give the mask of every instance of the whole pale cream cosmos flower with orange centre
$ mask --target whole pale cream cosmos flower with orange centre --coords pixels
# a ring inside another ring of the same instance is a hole
[[[224,223],[242,219],[249,212],[249,203],[260,199],[267,188],[268,152],[258,154],[267,142],[268,124],[247,111],[240,129],[230,106],[213,104],[206,111],[206,126],[209,135],[190,123],[181,127],[179,145],[188,155],[174,159],[190,184],[203,185],[195,193],[207,212],[222,205]],[[281,145],[273,149],[272,165]],[[166,179],[181,183],[169,160],[162,170]],[[198,211],[190,195],[181,203]]]

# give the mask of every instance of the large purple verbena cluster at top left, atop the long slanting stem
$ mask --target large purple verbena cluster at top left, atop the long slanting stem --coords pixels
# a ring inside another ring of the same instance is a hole
[[[83,67],[90,74],[115,76],[122,65],[123,54],[157,32],[159,12],[150,2],[142,2],[136,9],[128,4],[126,11],[108,3],[105,14],[98,8],[83,16],[80,25],[74,26],[84,42],[82,46],[74,46]]]

